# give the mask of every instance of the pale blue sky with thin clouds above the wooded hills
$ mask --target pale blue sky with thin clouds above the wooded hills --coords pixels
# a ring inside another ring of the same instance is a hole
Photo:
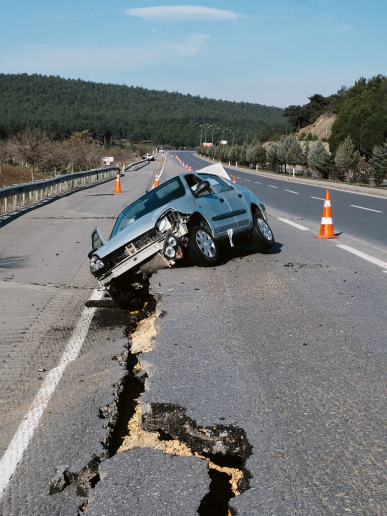
[[[387,74],[385,0],[2,4],[2,73],[281,107]]]

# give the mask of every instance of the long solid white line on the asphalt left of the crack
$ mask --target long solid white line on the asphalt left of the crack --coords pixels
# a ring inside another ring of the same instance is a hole
[[[90,297],[90,301],[100,300],[104,294],[105,291],[94,290]],[[24,451],[28,447],[29,441],[33,437],[34,432],[39,425],[44,409],[48,405],[66,366],[77,358],[80,348],[82,348],[95,310],[95,308],[84,308],[80,315],[78,324],[71,335],[70,341],[65,351],[63,351],[59,365],[47,373],[41,388],[34,398],[31,409],[25,415],[18,430],[14,434],[12,441],[6,449],[5,454],[0,460],[0,500],[8,486],[9,480],[23,457]]]

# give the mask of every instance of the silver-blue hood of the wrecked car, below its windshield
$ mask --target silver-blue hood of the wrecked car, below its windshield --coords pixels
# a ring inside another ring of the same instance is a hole
[[[98,254],[100,258],[103,258],[119,247],[128,244],[138,236],[153,229],[157,220],[171,208],[173,209],[172,204],[166,204],[160,208],[154,209],[153,212],[143,215],[141,218],[135,220],[119,233],[111,237],[110,240],[108,240],[105,245],[97,249],[94,254]]]

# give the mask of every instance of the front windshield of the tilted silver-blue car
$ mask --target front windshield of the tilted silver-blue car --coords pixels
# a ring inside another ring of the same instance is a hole
[[[153,212],[154,209],[164,206],[175,199],[179,199],[179,197],[183,197],[184,194],[185,189],[179,178],[174,178],[162,183],[121,212],[111,232],[110,238],[132,224],[135,220]]]

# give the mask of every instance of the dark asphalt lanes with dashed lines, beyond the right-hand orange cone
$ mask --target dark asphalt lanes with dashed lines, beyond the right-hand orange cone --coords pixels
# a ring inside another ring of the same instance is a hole
[[[177,153],[194,169],[209,164],[193,152]],[[255,174],[235,168],[225,167],[230,176],[235,175],[237,182],[250,188],[264,204],[276,211],[299,220],[320,224],[324,205],[324,185],[316,186],[272,178],[265,173]],[[387,248],[387,197],[368,195],[336,188],[329,188],[333,227],[335,233],[343,233]]]

